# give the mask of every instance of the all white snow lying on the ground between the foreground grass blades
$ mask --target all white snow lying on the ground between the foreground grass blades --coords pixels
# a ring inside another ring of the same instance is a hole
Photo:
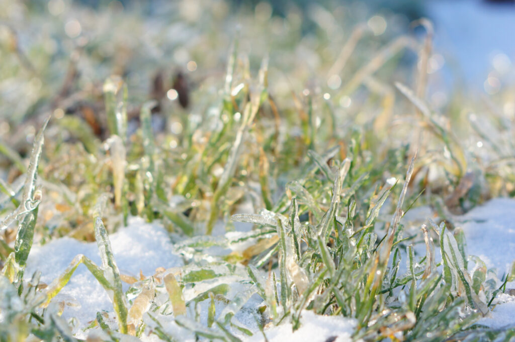
[[[421,220],[431,217],[430,210],[415,209],[410,214],[415,211],[417,211],[417,216]],[[515,200],[491,200],[465,215],[454,217],[454,221],[465,232],[469,255],[480,257],[488,268],[496,268],[499,278],[509,271],[511,263],[515,260]],[[245,227],[242,230],[248,228]],[[227,232],[225,237],[231,238],[233,235],[241,233],[237,231]],[[222,235],[221,231],[220,235]],[[170,242],[168,233],[159,223],[148,224],[142,219],[132,218],[128,227],[121,228],[110,235],[110,240],[121,274],[139,278],[140,271],[144,276],[150,276],[155,274],[158,267],[169,269],[184,265],[183,258],[174,251],[174,245]],[[235,247],[231,246],[230,249]],[[423,250],[422,253],[424,253]],[[101,264],[96,243],[83,243],[70,238],[61,238],[43,246],[35,245],[32,247],[26,276],[29,277],[36,269],[39,269],[42,272],[41,280],[50,283],[64,271],[78,254],[84,254],[95,263]],[[440,259],[439,254],[437,248],[437,261]],[[209,264],[210,260],[208,259],[203,260],[203,263]],[[202,264],[202,261],[200,263]],[[221,273],[223,274],[223,272]],[[248,276],[245,267],[238,266],[231,275],[215,277],[198,283],[198,286],[194,287],[186,286],[184,288],[184,298],[186,301],[192,300],[199,293],[224,283],[230,284],[230,290],[226,294],[229,299],[244,293],[252,294],[252,286],[246,279],[248,279]],[[128,288],[128,285],[124,283],[124,290],[127,291]],[[509,291],[509,289],[515,289],[515,282],[507,283],[506,293],[497,295],[493,301],[495,305],[491,314],[481,319],[479,323],[491,328],[515,325],[515,296],[511,295],[515,293],[515,290]],[[156,297],[156,300],[164,302],[166,301],[164,297],[166,297],[166,294],[162,293]],[[252,331],[253,336],[249,337],[237,330],[235,331],[235,329],[230,329],[230,331],[246,342],[264,341],[265,337],[259,330],[258,317],[256,317],[256,308],[262,305],[262,300],[255,294],[245,298],[246,304],[233,317],[233,323],[246,327]],[[75,325],[74,333],[77,337],[86,337],[90,333],[90,331],[84,332],[82,329],[95,319],[97,312],[103,310],[113,316],[112,303],[106,291],[84,265],[79,265],[70,282],[64,286],[54,301],[66,302],[63,317],[66,320],[75,317],[75,322],[72,321],[72,323]],[[207,323],[209,300],[203,300],[199,302],[199,305],[199,312],[201,313],[199,319],[205,325]],[[225,307],[224,303],[217,302],[216,316],[219,316]],[[188,310],[190,309],[188,307]],[[194,312],[188,313],[188,316],[192,315],[194,315]],[[179,327],[175,323],[173,315],[157,315],[156,319],[166,333],[178,338],[178,340],[195,341],[195,335],[191,331]],[[144,321],[149,328],[152,326],[152,321],[148,317],[144,317]],[[350,336],[355,329],[355,320],[353,319],[319,316],[311,311],[303,312],[301,322],[302,326],[296,332],[292,332],[290,323],[285,320],[278,327],[265,327],[264,333],[270,342],[324,342],[326,340],[344,342],[351,341]],[[94,330],[91,330],[91,332],[94,332]],[[159,339],[156,335],[148,335],[145,332],[141,340],[158,341]]]

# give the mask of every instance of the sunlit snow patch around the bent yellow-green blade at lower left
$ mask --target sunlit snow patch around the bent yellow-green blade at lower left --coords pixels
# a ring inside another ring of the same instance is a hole
[[[121,274],[138,277],[141,270],[145,276],[149,276],[156,272],[157,267],[183,265],[181,257],[174,254],[174,246],[168,233],[160,225],[132,218],[126,228],[113,233],[109,238]],[[101,265],[96,242],[84,243],[64,237],[42,246],[32,246],[25,275],[30,277],[39,270],[41,281],[49,284],[59,277],[78,254],[83,254]],[[127,289],[128,285],[124,283],[124,290]],[[95,319],[97,312],[112,312],[112,303],[106,290],[84,265],[77,267],[55,301],[69,303],[64,308],[62,317],[66,320],[72,317],[77,319],[74,333],[79,338],[85,337],[80,329],[87,327]]]

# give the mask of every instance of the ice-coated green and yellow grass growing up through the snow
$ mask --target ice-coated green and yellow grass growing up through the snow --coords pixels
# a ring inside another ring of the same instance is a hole
[[[500,111],[480,117],[493,127],[494,133],[487,134],[480,128],[486,126],[452,113],[452,104],[445,116],[431,109],[424,92],[430,24],[422,22],[427,35],[419,41],[410,34],[388,37],[388,32],[375,38],[367,35],[365,24],[335,28],[311,18],[319,27],[299,40],[295,9],[285,19],[271,19],[282,20],[286,29],[263,26],[253,13],[237,16],[210,6],[213,11],[201,12],[196,23],[173,7],[166,12],[172,23],[184,23],[185,37],[213,44],[188,46],[199,70],[187,74],[197,82],[187,109],[163,94],[149,96],[131,79],[156,72],[156,61],[141,51],[155,44],[180,50],[174,38],[152,31],[138,48],[117,46],[134,54],[126,65],[116,60],[121,56],[116,51],[102,52],[113,37],[127,34],[127,26],[141,33],[143,20],[130,11],[108,9],[109,29],[92,30],[90,41],[75,47],[78,60],[68,50],[52,55],[36,41],[28,51],[2,46],[8,58],[0,75],[16,79],[27,94],[34,73],[42,85],[30,93],[31,106],[14,106],[11,116],[3,114],[10,132],[0,141],[6,178],[0,184],[0,340],[24,340],[29,334],[77,340],[52,298],[80,263],[113,303],[116,328],[101,312],[89,327],[104,331],[105,340],[149,331],[162,340],[180,340],[163,325],[163,317],[171,317],[199,337],[238,341],[235,331],[252,333],[233,317],[256,293],[263,299],[254,312],[261,326],[289,321],[298,329],[303,310],[312,310],[356,319],[353,338],[367,341],[512,338],[513,329],[487,329],[475,322],[505,290],[499,283],[505,286],[513,275],[497,279],[479,258],[466,255],[463,232],[449,214],[513,194],[513,146],[506,138],[511,122]],[[87,11],[72,8],[70,13],[88,27]],[[27,15],[37,23],[49,14]],[[156,15],[160,29],[173,27],[164,14]],[[222,23],[241,18],[249,23],[239,34],[222,29]],[[330,39],[339,31],[347,42]],[[6,32],[15,37],[16,30]],[[227,53],[230,40],[234,44]],[[247,53],[252,43],[266,46],[269,57]],[[296,49],[319,61],[314,70],[305,71],[309,61]],[[107,53],[104,59],[100,52]],[[421,67],[402,65],[406,54],[416,55]],[[227,60],[224,74],[213,59]],[[61,84],[65,61],[71,74],[80,69],[85,76]],[[84,63],[93,66],[93,74]],[[105,63],[125,68],[127,82],[105,75]],[[171,62],[163,57],[160,63]],[[206,75],[197,76],[200,69]],[[417,81],[407,85],[410,75]],[[341,84],[328,85],[335,76]],[[100,90],[91,79],[106,81]],[[316,85],[308,86],[309,79]],[[457,96],[454,101],[466,100]],[[155,113],[157,103],[161,111]],[[11,113],[5,110],[9,100],[0,106],[2,113]],[[153,118],[159,117],[171,129],[156,130]],[[128,134],[131,121],[139,124]],[[456,125],[460,130],[453,129]],[[26,153],[25,132],[35,127],[39,133],[32,133],[32,151]],[[482,149],[474,148],[476,141],[482,141]],[[238,213],[246,203],[255,213]],[[405,212],[421,205],[431,206],[441,223],[409,226]],[[108,232],[121,229],[129,215],[166,226],[186,262],[180,272],[170,269],[144,279],[119,273]],[[226,230],[233,222],[254,227],[237,236],[213,236],[217,222]],[[102,264],[78,255],[49,285],[40,283],[38,274],[25,274],[34,237],[45,243],[62,236],[95,240]],[[210,252],[213,246],[241,242],[251,243],[231,254]],[[425,255],[415,254],[414,244],[425,245]],[[440,264],[435,253],[441,254]],[[207,257],[212,262],[201,261]],[[408,265],[406,274],[399,274],[401,262]],[[231,282],[224,282],[229,276]],[[215,278],[222,281],[185,299],[185,291]],[[125,293],[123,281],[131,283]],[[234,294],[233,282],[249,286]],[[208,303],[207,325],[201,323],[201,303]]]

